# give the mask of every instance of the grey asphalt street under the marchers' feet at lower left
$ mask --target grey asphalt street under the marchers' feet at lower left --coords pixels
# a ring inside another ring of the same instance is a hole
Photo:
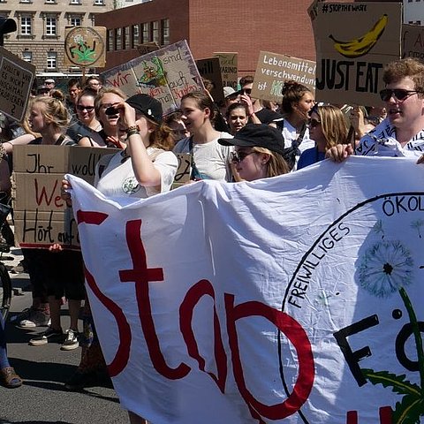
[[[19,249],[12,249],[9,256],[18,263]],[[16,289],[11,303],[11,316],[31,305],[27,274],[12,275]],[[63,328],[69,325],[66,305],[62,311]],[[127,413],[121,409],[115,391],[109,387],[90,387],[82,392],[64,390],[64,382],[79,364],[81,348],[64,352],[60,345],[30,346],[28,340],[39,329],[18,329],[6,324],[8,356],[11,366],[24,379],[18,389],[0,386],[0,424],[85,424],[127,423]],[[79,330],[82,322],[79,322]]]

